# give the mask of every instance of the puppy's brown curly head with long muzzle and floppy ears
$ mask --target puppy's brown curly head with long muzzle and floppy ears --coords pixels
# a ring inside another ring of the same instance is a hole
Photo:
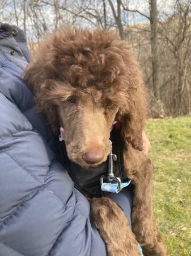
[[[101,30],[57,31],[40,44],[24,79],[54,134],[63,127],[73,162],[84,167],[104,162],[116,120],[121,122],[119,136],[142,149],[142,78],[133,54],[115,35]]]

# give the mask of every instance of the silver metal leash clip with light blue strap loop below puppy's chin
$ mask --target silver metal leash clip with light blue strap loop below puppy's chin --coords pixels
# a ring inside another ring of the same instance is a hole
[[[113,173],[113,161],[117,161],[117,156],[113,154],[112,142],[111,153],[108,156],[108,174],[100,177],[101,190],[105,192],[118,193],[122,190],[122,182],[120,177],[114,176]]]

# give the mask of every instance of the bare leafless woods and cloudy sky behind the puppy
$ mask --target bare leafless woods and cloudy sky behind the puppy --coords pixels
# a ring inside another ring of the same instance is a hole
[[[148,116],[191,112],[190,0],[0,0],[0,22],[23,28],[31,48],[63,26],[111,30],[137,54]]]

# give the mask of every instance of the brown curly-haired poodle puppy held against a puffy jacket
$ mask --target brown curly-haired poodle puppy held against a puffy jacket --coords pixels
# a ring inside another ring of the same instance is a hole
[[[134,185],[133,233],[122,210],[107,197],[90,200],[92,221],[109,256],[140,255],[137,241],[145,256],[166,256],[152,213],[151,163],[142,151],[143,81],[127,48],[107,31],[66,28],[40,44],[24,79],[54,134],[63,127],[67,155],[80,166],[96,167],[107,160],[111,126],[120,121],[125,171]]]

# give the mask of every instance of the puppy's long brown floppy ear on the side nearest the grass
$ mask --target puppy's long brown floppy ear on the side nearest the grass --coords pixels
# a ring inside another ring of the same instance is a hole
[[[126,55],[128,111],[121,116],[122,137],[134,148],[142,150],[142,131],[147,112],[142,74],[133,54]]]

